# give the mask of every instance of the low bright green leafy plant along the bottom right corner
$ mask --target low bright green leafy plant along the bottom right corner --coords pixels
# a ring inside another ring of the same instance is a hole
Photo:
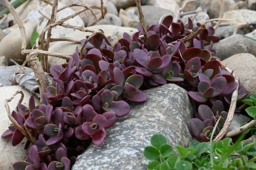
[[[231,145],[231,138],[224,138],[216,142],[189,142],[189,147],[167,144],[167,138],[161,134],[151,137],[152,146],[145,147],[144,156],[152,160],[147,170],[256,170],[256,144],[252,142],[242,143],[242,135],[239,140]],[[212,147],[212,161],[210,160],[210,147]]]

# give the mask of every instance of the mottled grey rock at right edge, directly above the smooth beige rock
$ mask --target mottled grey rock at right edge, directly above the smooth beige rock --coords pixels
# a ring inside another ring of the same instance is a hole
[[[255,41],[245,38],[243,35],[235,34],[214,43],[212,48],[216,50],[215,56],[223,60],[238,53],[250,53],[256,56],[255,46]],[[207,46],[205,48],[207,49]]]

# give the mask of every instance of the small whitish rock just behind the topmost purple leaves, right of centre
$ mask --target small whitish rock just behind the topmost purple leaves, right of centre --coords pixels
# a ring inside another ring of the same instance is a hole
[[[195,13],[194,14],[188,14],[188,15],[184,15],[181,20],[183,23],[188,23],[188,17],[190,19],[193,18],[193,16],[195,16]],[[204,23],[205,21],[209,20],[210,17],[209,15],[206,13],[206,12],[198,12],[198,14],[195,16],[195,18],[192,20],[193,21],[193,25],[196,26],[196,23]],[[206,26],[211,26],[210,23],[207,23]]]

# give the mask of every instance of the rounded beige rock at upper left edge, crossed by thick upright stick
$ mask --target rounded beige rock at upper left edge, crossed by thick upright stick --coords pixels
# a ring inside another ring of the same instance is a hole
[[[25,23],[26,31],[26,48],[30,49],[30,38],[35,31],[37,23]],[[10,59],[15,60],[19,64],[22,64],[25,56],[21,54],[21,34],[19,28],[15,28],[11,33],[7,34],[0,42],[0,56],[5,56],[9,65],[13,65]]]

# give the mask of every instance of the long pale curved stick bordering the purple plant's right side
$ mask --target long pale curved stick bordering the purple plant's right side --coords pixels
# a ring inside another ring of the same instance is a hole
[[[219,60],[218,60],[219,61]],[[224,63],[222,63],[221,61],[219,61],[220,64],[230,73],[232,73],[232,70],[230,70]],[[232,94],[232,99],[231,99],[231,104],[230,104],[230,108],[229,108],[229,113],[228,113],[228,117],[227,117],[227,120],[225,122],[225,124],[223,125],[222,129],[220,130],[219,132],[219,135],[217,135],[214,140],[215,141],[220,141],[227,133],[228,131],[228,128],[232,122],[232,119],[233,119],[233,115],[234,115],[234,112],[235,112],[235,107],[236,107],[236,100],[237,100],[237,94],[238,94],[238,79],[237,77],[235,76],[235,74],[233,74],[234,78],[235,78],[235,82],[237,82],[237,87],[236,89],[233,91],[233,94]]]

